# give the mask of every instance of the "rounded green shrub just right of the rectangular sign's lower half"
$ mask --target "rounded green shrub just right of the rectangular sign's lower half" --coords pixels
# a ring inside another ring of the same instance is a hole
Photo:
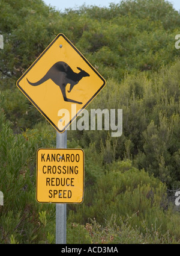
[[[116,225],[121,226],[123,222],[124,228],[139,233],[139,239],[149,236],[152,243],[157,232],[157,243],[161,239],[170,241],[170,236],[174,241],[179,240],[179,229],[173,232],[179,214],[173,213],[168,204],[166,186],[145,170],[132,167],[130,161],[113,163],[110,172],[97,179],[94,189],[86,189],[84,204],[70,210],[68,220],[85,225],[88,218],[95,218],[98,225],[104,225],[104,219],[109,221],[113,214]],[[150,236],[152,229],[153,236]]]

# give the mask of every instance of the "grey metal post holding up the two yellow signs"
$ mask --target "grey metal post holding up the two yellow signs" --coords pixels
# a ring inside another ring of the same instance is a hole
[[[67,148],[67,131],[56,131],[56,148]],[[66,243],[66,204],[56,204],[56,244]]]

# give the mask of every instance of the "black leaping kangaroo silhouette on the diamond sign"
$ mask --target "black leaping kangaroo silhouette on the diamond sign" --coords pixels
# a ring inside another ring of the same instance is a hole
[[[74,99],[68,99],[65,92],[65,87],[67,84],[70,84],[70,90],[68,90],[70,93],[73,87],[76,86],[76,84],[78,84],[83,77],[89,76],[89,74],[80,67],[77,67],[77,69],[80,70],[79,73],[75,73],[67,63],[58,61],[53,64],[53,66],[47,71],[46,75],[44,75],[43,78],[36,83],[31,83],[29,82],[28,78],[26,79],[31,86],[40,86],[40,84],[43,84],[47,80],[51,79],[61,89],[64,101],[82,104],[82,102],[74,101]]]

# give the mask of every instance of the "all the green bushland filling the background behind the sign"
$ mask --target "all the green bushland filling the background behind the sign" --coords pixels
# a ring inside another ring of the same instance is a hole
[[[68,131],[68,148],[85,151],[85,198],[67,205],[67,243],[179,243],[167,195],[180,184],[178,11],[164,0],[64,13],[41,0],[0,8],[0,243],[55,243],[55,205],[35,201],[35,167],[56,131],[16,81],[58,33],[106,78],[87,109],[123,111],[121,137]]]

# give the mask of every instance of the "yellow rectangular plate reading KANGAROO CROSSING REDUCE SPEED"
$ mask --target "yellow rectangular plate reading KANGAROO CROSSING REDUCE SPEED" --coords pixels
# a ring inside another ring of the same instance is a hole
[[[36,186],[38,202],[80,204],[83,201],[83,193],[82,149],[38,149]]]

